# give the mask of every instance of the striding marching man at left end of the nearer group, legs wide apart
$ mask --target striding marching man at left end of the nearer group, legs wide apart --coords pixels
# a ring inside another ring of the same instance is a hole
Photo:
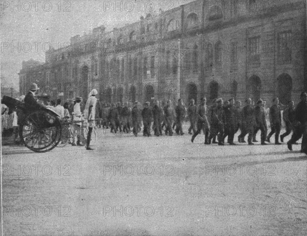
[[[208,136],[209,136],[209,122],[207,119],[207,106],[206,106],[207,99],[205,97],[202,98],[201,104],[198,106],[196,111],[197,116],[197,131],[193,134],[191,142],[194,141],[195,137],[201,133],[203,130],[205,134],[205,144],[209,144]]]

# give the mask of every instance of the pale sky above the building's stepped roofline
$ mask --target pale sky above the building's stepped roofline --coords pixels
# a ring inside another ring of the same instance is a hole
[[[1,82],[16,86],[23,60],[45,62],[49,45],[58,49],[69,45],[72,36],[88,34],[100,25],[111,31],[146,13],[193,1],[0,1]]]

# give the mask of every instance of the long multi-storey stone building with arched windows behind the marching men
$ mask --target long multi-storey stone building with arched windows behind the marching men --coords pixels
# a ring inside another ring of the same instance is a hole
[[[53,98],[105,102],[201,96],[296,102],[306,84],[306,3],[198,0],[134,24],[71,38],[46,63],[20,70],[20,91],[39,81]],[[60,94],[62,92],[62,94]]]

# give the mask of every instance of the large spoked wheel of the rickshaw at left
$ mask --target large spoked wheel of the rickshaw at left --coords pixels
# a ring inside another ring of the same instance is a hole
[[[61,123],[51,111],[30,113],[19,128],[21,142],[37,153],[51,151],[61,139]]]

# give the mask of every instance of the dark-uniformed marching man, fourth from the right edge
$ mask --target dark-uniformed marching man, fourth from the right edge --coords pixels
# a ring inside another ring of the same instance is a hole
[[[256,124],[255,124],[255,133],[258,132],[258,130],[261,131],[261,145],[267,145],[265,143],[266,137],[267,137],[267,121],[266,121],[266,111],[263,107],[263,101],[259,99],[257,101],[257,105],[255,107],[255,119],[256,119]]]

